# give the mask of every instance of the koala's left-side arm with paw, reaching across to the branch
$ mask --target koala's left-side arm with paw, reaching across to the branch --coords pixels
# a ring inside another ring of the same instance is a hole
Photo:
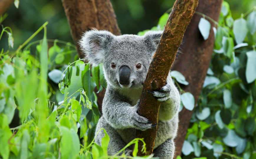
[[[138,104],[139,102],[135,106],[131,106],[113,91],[107,89],[102,104],[103,116],[115,129],[136,128],[143,131],[156,126],[137,113]]]

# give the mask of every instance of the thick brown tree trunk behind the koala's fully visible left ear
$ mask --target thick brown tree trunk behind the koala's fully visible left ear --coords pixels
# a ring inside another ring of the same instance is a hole
[[[77,40],[81,39],[82,33],[86,30],[96,28],[121,35],[110,0],[62,0],[62,4],[79,57],[83,58],[83,55]],[[97,94],[99,108],[104,94],[105,89]]]

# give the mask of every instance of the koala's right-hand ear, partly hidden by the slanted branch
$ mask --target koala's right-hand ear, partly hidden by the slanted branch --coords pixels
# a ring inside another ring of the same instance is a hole
[[[143,36],[147,47],[150,50],[155,51],[162,35],[163,31],[148,31]]]

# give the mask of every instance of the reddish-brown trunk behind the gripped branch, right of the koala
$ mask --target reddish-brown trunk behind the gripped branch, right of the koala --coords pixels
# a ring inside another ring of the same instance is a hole
[[[219,14],[221,9],[222,0],[201,0],[196,9],[197,12],[203,13],[213,20],[219,20]],[[211,61],[211,55],[214,48],[214,32],[212,27],[214,23],[211,23],[211,31],[209,38],[204,40],[198,29],[198,23],[202,16],[195,14],[191,20],[190,25],[183,38],[183,45],[181,54],[177,56],[172,70],[177,70],[181,72],[189,85],[182,85],[181,88],[185,92],[190,92],[193,94],[194,98],[197,99],[201,93],[202,85],[206,77],[206,72]],[[179,114],[179,129],[178,134],[175,139],[176,151],[175,157],[181,155],[181,149],[183,142],[185,140],[187,129],[190,123],[193,111],[189,111],[185,108]]]

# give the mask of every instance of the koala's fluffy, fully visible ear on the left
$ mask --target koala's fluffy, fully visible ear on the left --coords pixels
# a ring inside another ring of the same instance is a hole
[[[103,62],[106,49],[115,35],[105,30],[90,30],[82,35],[79,41],[81,50],[86,56],[86,59],[94,66]]]

